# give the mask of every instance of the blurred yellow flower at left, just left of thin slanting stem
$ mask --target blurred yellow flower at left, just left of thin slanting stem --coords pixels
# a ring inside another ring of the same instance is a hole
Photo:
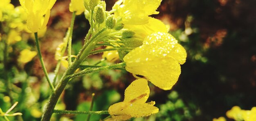
[[[35,52],[35,51],[30,51],[29,49],[23,49],[20,52],[18,61],[20,63],[27,63],[27,62],[31,61],[36,56],[36,54],[37,54],[37,52]]]

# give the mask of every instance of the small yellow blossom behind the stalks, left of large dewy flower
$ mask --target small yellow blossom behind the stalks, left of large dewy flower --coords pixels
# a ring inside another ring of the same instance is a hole
[[[108,49],[108,48],[113,48],[113,47],[111,47],[111,46],[106,47],[106,49]],[[107,52],[103,53],[102,58],[106,58],[108,61],[114,62],[119,59],[119,54],[118,54],[117,50],[107,51]]]

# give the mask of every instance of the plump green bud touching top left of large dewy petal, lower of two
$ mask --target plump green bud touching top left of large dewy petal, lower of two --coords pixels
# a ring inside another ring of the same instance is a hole
[[[125,38],[123,41],[126,47],[139,47],[143,44],[143,40],[139,38]]]

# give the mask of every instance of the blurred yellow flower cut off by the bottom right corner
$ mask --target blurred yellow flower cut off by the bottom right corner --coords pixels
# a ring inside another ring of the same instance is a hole
[[[252,110],[242,110],[242,116],[245,121],[256,121],[256,107]]]

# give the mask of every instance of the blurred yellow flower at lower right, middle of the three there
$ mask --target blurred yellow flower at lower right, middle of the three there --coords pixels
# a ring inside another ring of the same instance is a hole
[[[231,108],[231,110],[226,112],[226,116],[229,119],[235,119],[235,120],[242,120],[242,113],[241,113],[241,108],[238,106],[234,106]]]

